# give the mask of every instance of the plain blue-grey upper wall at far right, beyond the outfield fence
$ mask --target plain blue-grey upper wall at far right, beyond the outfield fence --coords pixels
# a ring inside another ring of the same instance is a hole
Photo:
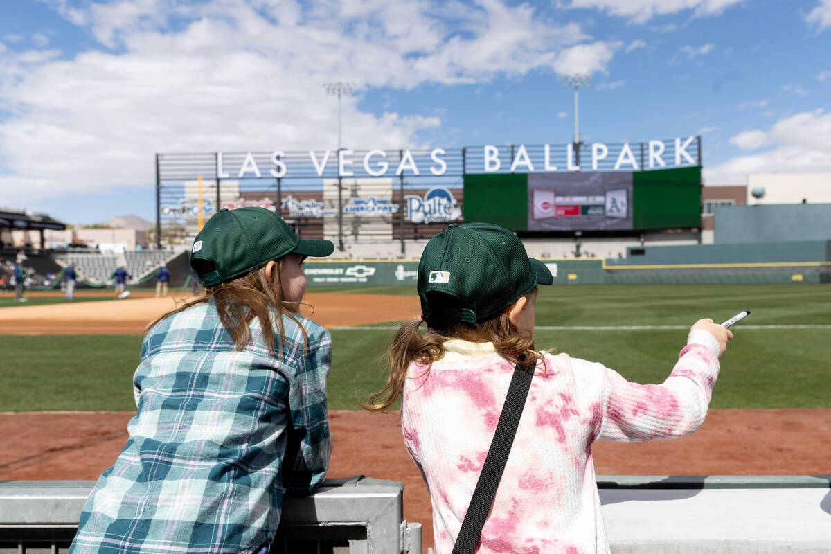
[[[716,244],[829,239],[831,203],[760,204],[715,208]]]

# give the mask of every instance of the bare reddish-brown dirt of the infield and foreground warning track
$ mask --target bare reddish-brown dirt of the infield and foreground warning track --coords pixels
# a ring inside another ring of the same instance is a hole
[[[141,333],[174,306],[171,299],[146,296],[152,295],[2,308],[0,334]],[[307,302],[320,306],[312,318],[330,327],[401,320],[419,311],[416,297],[310,293]],[[132,415],[0,413],[0,479],[96,479],[125,444]],[[335,448],[329,476],[406,483],[404,515],[424,525],[424,545],[431,546],[430,498],[404,448],[398,414],[337,410],[330,412],[330,425]],[[593,456],[598,475],[811,475],[831,473],[829,444],[831,409],[712,409],[686,439],[599,442]]]

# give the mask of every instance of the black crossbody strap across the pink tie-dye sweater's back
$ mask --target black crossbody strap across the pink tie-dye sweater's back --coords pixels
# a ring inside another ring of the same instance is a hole
[[[511,377],[502,414],[499,415],[499,423],[496,424],[494,439],[490,443],[487,458],[484,458],[482,473],[479,473],[479,481],[476,483],[473,498],[470,499],[470,506],[462,521],[459,537],[456,537],[453,554],[473,554],[479,544],[484,520],[488,518],[490,506],[494,503],[499,480],[502,478],[505,463],[508,462],[511,445],[514,444],[519,418],[522,416],[533,376],[533,365],[518,363],[514,367],[514,375]]]

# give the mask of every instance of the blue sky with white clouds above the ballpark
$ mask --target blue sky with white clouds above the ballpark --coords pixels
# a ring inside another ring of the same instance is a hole
[[[831,173],[831,0],[0,0],[0,205],[154,219],[156,152],[701,135],[706,184]]]

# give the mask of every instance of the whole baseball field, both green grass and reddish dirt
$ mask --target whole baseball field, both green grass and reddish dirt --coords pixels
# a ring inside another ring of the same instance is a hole
[[[146,324],[184,293],[57,292],[13,302],[0,294],[0,479],[95,479],[116,458],[135,411],[131,376]],[[332,331],[330,476],[406,483],[405,517],[425,525],[430,501],[407,457],[396,412],[356,404],[385,380],[396,321],[419,313],[411,287],[313,289],[306,313]],[[313,312],[312,312],[313,306]],[[700,317],[750,309],[705,424],[675,441],[597,443],[598,474],[831,473],[831,287],[828,285],[573,285],[542,287],[537,346],[599,361],[629,380],[659,383]]]

